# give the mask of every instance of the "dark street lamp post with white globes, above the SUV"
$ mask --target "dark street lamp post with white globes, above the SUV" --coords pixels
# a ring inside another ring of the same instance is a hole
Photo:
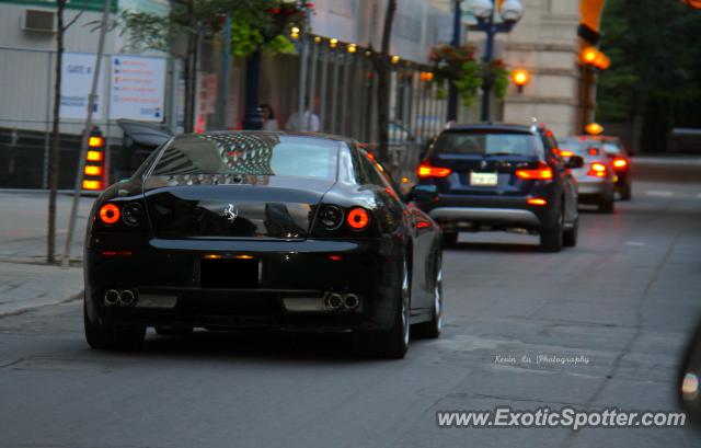
[[[484,43],[484,62],[494,58],[494,36],[497,33],[509,33],[524,15],[524,5],[519,0],[504,0],[501,11],[494,7],[493,0],[472,0],[472,14],[478,19],[478,28],[486,33]],[[497,22],[497,13],[502,22]],[[486,122],[492,115],[491,95],[493,79],[485,79],[482,84],[482,120]]]

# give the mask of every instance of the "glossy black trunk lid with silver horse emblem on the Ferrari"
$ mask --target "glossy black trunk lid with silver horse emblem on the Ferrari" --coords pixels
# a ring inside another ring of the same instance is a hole
[[[162,175],[146,179],[143,194],[157,238],[303,240],[333,184],[280,175]]]

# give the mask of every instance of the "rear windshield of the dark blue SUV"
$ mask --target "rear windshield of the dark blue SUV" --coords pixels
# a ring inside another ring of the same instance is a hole
[[[538,139],[532,134],[501,131],[450,131],[434,145],[439,154],[526,156],[538,154]]]

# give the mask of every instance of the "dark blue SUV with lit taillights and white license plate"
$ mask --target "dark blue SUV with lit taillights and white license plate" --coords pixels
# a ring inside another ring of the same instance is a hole
[[[577,185],[543,125],[453,125],[418,166],[414,202],[455,243],[460,231],[522,229],[540,248],[558,252],[577,243]]]

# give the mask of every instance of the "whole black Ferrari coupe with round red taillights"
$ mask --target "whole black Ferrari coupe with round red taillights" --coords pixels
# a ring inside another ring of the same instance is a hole
[[[88,226],[94,348],[157,332],[352,331],[402,357],[441,326],[441,232],[355,141],[284,133],[170,139],[107,188]],[[421,198],[418,198],[421,196]]]

